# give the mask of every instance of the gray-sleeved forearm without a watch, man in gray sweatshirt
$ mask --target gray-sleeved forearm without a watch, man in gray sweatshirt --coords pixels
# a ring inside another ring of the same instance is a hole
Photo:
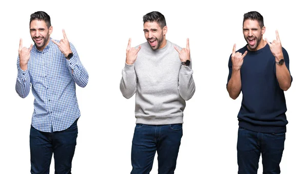
[[[122,70],[122,79],[120,82],[120,91],[122,95],[129,99],[137,91],[137,75],[134,71],[134,64],[125,63],[125,67]]]

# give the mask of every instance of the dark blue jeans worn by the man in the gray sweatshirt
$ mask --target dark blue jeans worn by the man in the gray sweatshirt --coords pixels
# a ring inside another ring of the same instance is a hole
[[[182,135],[182,124],[136,124],[131,148],[131,174],[150,173],[156,151],[158,173],[174,173]]]

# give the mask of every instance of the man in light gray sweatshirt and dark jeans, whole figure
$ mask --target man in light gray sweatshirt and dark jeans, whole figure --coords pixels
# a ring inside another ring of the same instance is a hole
[[[166,40],[163,14],[143,16],[146,42],[126,49],[120,90],[127,99],[136,93],[136,127],[131,148],[131,174],[152,169],[157,151],[158,172],[174,173],[183,135],[185,100],[195,93],[189,40],[180,48]]]

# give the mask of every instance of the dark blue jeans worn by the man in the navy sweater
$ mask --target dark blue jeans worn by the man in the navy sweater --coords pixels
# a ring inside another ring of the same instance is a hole
[[[258,133],[239,127],[238,173],[257,174],[262,154],[263,174],[280,173],[280,161],[284,149],[285,133]]]

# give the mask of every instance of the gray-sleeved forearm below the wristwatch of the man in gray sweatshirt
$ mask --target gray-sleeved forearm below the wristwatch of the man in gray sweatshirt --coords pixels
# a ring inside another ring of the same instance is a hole
[[[184,100],[189,100],[195,94],[196,86],[192,73],[189,66],[181,66],[178,91]]]

